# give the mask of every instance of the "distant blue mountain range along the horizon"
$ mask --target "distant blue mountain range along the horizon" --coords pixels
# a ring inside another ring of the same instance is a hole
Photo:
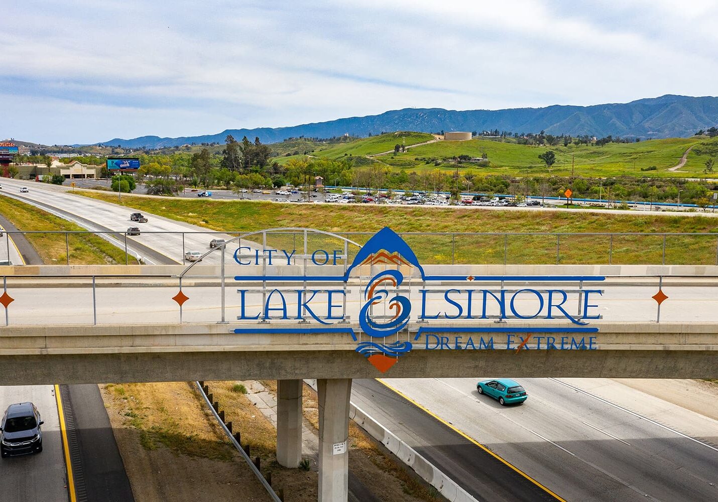
[[[704,96],[675,96],[646,98],[630,103],[594,106],[546,106],[546,108],[510,108],[507,110],[455,111],[443,108],[404,108],[365,117],[338,118],[328,122],[302,124],[291,127],[261,127],[258,129],[226,129],[219,134],[160,138],[141,136],[133,139],[115,138],[102,143],[129,148],[177,147],[225,141],[231,134],[241,140],[253,141],[258,136],[263,143],[276,143],[298,136],[330,138],[369,136],[393,131],[511,131],[547,134],[570,134],[604,137],[670,138],[691,136],[699,129],[718,124],[718,98]]]

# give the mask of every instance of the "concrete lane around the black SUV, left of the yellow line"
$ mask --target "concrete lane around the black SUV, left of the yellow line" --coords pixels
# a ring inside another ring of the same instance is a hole
[[[32,401],[42,424],[42,452],[0,460],[1,502],[67,502],[65,455],[55,387],[1,386],[0,412],[9,404]]]

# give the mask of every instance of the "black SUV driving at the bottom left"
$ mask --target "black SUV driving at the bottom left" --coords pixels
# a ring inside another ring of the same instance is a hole
[[[43,423],[32,403],[8,406],[0,424],[0,457],[42,452]]]

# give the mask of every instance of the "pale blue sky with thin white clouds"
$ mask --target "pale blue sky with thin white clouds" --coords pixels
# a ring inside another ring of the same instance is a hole
[[[7,2],[0,138],[718,94],[718,1]]]

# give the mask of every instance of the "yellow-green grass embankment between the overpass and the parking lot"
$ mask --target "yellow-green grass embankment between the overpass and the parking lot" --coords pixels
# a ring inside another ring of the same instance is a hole
[[[115,203],[116,197],[103,193],[83,195]],[[714,233],[715,218],[705,216],[663,216],[635,213],[575,213],[552,210],[495,211],[473,208],[401,208],[388,206],[304,205],[233,200],[172,200],[152,197],[122,198],[132,208],[185,221],[215,231],[257,231],[266,228],[317,228],[333,233],[358,232],[350,238],[363,243],[384,226],[396,232],[421,233],[405,236],[426,264],[551,264],[556,263],[556,236],[526,236],[522,233]],[[434,236],[429,233],[462,233]],[[503,235],[513,233],[504,241]],[[482,235],[466,235],[482,233]],[[270,246],[291,246],[301,236],[279,236]],[[332,248],[339,243],[314,242],[314,248]],[[667,264],[715,264],[718,233],[711,236],[669,236]],[[610,239],[595,235],[561,236],[559,261],[562,264],[608,263]],[[453,260],[452,260],[453,255]],[[614,236],[613,264],[660,264],[663,236]]]

